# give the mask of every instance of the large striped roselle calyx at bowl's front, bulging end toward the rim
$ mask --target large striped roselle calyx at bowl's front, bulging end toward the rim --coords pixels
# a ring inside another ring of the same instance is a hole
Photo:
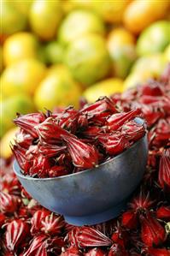
[[[98,164],[98,152],[95,146],[87,145],[73,136],[62,135],[67,143],[73,164],[82,169],[90,169]]]

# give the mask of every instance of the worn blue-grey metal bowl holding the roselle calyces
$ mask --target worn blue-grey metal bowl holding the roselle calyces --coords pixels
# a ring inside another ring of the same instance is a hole
[[[22,175],[16,161],[14,170],[40,205],[62,214],[67,223],[90,225],[120,214],[144,175],[147,155],[145,135],[125,152],[92,170],[44,179]]]

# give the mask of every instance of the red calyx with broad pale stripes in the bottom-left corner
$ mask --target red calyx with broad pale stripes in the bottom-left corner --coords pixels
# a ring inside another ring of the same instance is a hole
[[[15,252],[15,249],[25,240],[27,235],[29,235],[28,224],[21,219],[13,220],[7,225],[5,232],[6,247],[10,252]]]

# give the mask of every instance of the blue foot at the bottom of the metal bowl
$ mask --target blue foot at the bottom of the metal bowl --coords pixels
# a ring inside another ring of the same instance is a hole
[[[103,211],[93,215],[87,216],[66,216],[64,215],[67,223],[75,225],[75,226],[83,226],[83,225],[95,225],[98,223],[106,222],[114,217],[120,215],[120,212],[126,209],[128,199],[121,202],[120,205],[114,205],[112,208],[107,211]]]

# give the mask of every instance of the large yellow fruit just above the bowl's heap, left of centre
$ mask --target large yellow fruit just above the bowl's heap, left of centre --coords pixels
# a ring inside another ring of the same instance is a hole
[[[39,84],[34,101],[38,110],[53,110],[56,106],[74,105],[79,107],[81,88],[67,68],[60,65],[51,71]]]

